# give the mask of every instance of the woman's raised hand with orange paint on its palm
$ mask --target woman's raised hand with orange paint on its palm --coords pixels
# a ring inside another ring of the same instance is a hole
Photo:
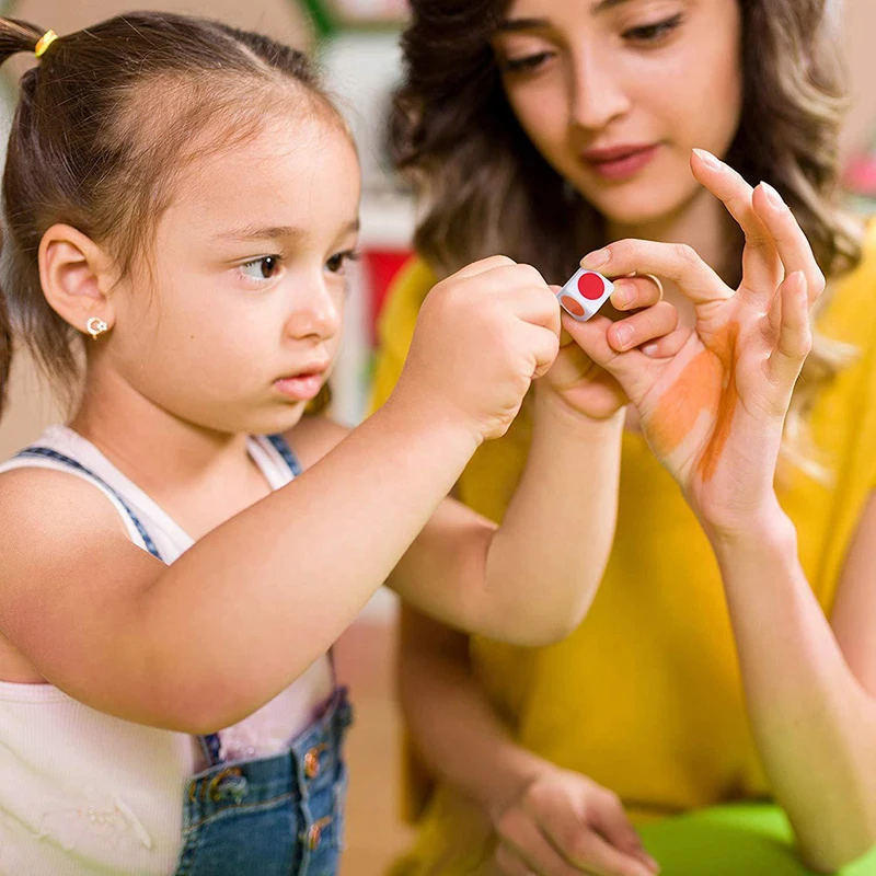
[[[782,429],[825,278],[774,189],[752,191],[708,153],[691,163],[745,232],[739,288],[727,287],[689,246],[620,241],[583,264],[610,276],[637,270],[672,280],[694,304],[694,330],[680,349],[656,358],[619,356],[604,318],[568,330],[636,405],[652,449],[706,530],[733,533],[774,505]]]

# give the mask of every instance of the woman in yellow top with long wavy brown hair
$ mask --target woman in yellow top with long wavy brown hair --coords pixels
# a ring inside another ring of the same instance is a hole
[[[469,642],[406,612],[404,708],[437,783],[400,873],[653,872],[621,803],[643,823],[772,796],[820,869],[876,840],[876,240],[862,252],[837,196],[837,5],[412,3],[393,141],[427,204],[422,261],[383,319],[378,400],[394,384],[427,290],[496,250],[560,280],[573,253],[630,235],[654,241],[614,243],[610,258],[590,264],[662,275],[712,357],[698,360],[700,372],[682,371],[676,397],[693,404],[669,407],[669,427],[653,400],[631,410],[612,555],[570,638],[538,649]],[[752,218],[748,186],[692,159],[694,148],[726,157],[751,184],[770,181],[831,280],[777,480],[762,433],[727,413],[764,411],[751,393],[763,377],[758,358],[735,379],[726,368],[757,333],[715,333],[715,323],[730,324],[730,304],[702,292],[717,272],[725,295],[738,288],[737,303],[754,303],[754,318],[768,312],[754,290],[781,277],[782,247]],[[698,181],[727,201],[747,245]],[[666,241],[687,246],[668,258]],[[673,283],[693,265],[699,312]],[[727,406],[710,419],[714,407],[700,403],[719,385]],[[459,484],[493,519],[531,447],[526,414]],[[678,450],[694,426],[714,439]],[[701,447],[708,456],[691,466]],[[718,481],[722,491],[708,487]],[[659,841],[656,827],[647,832]],[[660,863],[669,873],[759,872],[745,832],[728,835],[713,858],[707,841],[692,839],[693,867]],[[800,867],[791,854],[780,866]]]

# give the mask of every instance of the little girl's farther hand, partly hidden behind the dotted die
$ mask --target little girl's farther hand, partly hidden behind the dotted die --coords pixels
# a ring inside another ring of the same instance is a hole
[[[560,290],[558,286],[553,288]],[[610,301],[618,315],[625,311],[641,311],[608,325],[607,337],[615,350],[623,355],[661,338],[664,347],[672,343],[678,311],[661,301],[661,289],[653,278],[622,277],[614,280]],[[578,324],[563,314],[563,324],[566,323]],[[678,341],[677,346],[683,343],[684,337]],[[596,365],[567,331],[561,335],[556,361],[539,381],[538,389],[555,393],[569,408],[591,419],[608,419],[629,402],[621,384]]]

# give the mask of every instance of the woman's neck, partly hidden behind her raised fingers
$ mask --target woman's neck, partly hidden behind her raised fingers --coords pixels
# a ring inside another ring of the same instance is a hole
[[[735,286],[741,238],[724,205],[700,189],[678,210],[649,222],[607,224],[608,241],[638,238],[665,243],[687,243],[728,284]]]

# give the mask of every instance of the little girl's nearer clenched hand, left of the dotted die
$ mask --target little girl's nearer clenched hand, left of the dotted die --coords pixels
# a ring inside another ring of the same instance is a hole
[[[560,303],[535,268],[505,256],[475,262],[426,297],[393,396],[479,442],[497,438],[554,364],[560,327]]]

